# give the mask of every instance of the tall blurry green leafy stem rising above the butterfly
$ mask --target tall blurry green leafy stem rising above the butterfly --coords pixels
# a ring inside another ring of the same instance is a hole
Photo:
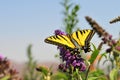
[[[65,32],[68,34],[72,33],[73,29],[78,23],[78,15],[77,12],[79,11],[79,5],[74,5],[70,3],[70,0],[63,0],[61,3],[64,7],[64,25],[65,25]]]

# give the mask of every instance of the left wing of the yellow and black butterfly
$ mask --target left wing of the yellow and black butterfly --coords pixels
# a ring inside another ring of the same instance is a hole
[[[71,37],[69,35],[55,35],[50,36],[45,39],[46,43],[58,45],[58,46],[67,46],[69,48],[74,49],[75,45],[71,40]]]

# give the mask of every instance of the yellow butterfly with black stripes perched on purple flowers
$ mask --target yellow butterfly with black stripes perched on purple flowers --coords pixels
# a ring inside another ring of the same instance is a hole
[[[86,53],[90,51],[90,40],[94,33],[95,31],[90,29],[77,30],[72,34],[50,36],[45,39],[45,42],[57,46],[63,46],[73,51],[81,48]]]

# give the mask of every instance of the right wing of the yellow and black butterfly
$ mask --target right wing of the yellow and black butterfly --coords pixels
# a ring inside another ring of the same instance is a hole
[[[72,39],[74,39],[74,41],[77,42],[77,44],[81,47],[90,47],[89,42],[93,37],[94,33],[95,32],[93,30],[89,29],[78,30],[76,32],[73,32]]]

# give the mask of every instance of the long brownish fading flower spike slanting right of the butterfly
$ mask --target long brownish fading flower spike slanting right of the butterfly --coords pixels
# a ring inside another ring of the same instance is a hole
[[[116,45],[116,41],[112,38],[112,35],[110,35],[107,31],[105,31],[95,20],[92,20],[89,16],[86,16],[86,20],[91,25],[93,30],[96,31],[96,33],[99,35],[99,37],[102,38],[103,44],[108,44],[110,48],[106,50],[106,52],[111,52],[113,46]]]

